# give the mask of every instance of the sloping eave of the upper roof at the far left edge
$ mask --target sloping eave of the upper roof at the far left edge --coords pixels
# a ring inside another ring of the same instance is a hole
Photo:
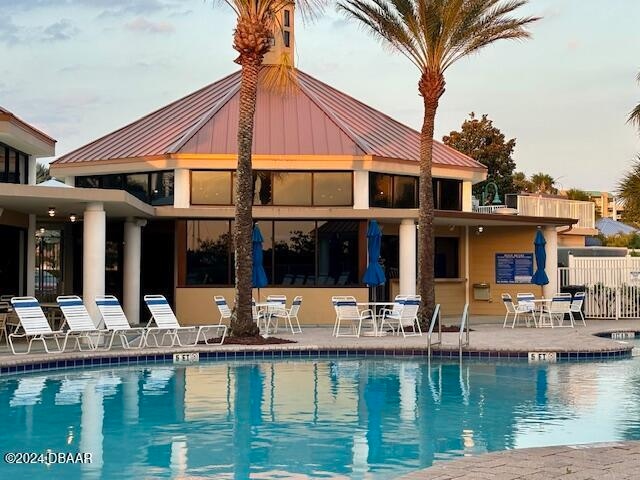
[[[14,114],[0,111],[0,142],[35,157],[53,157],[56,141]]]

